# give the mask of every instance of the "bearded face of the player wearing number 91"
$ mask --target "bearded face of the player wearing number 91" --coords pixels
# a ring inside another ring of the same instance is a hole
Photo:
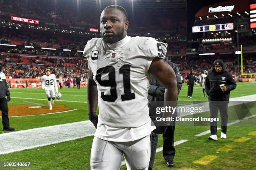
[[[126,35],[129,21],[125,21],[122,11],[114,8],[105,9],[100,15],[100,31],[103,40],[115,43]]]

